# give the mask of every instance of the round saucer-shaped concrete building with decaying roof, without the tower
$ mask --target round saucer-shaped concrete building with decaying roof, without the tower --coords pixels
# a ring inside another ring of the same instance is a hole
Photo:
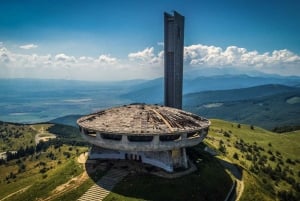
[[[77,121],[94,145],[91,159],[128,159],[168,172],[188,168],[185,147],[200,143],[210,122],[176,108],[132,104],[114,107]]]

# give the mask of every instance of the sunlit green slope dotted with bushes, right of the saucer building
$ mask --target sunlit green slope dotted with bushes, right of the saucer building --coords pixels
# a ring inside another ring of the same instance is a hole
[[[227,132],[230,137],[225,137],[224,132]],[[282,179],[274,181],[262,171],[257,173],[250,171],[253,161],[247,160],[246,155],[253,156],[255,154],[253,150],[253,154],[251,154],[249,151],[242,152],[235,146],[235,143],[240,142],[241,139],[245,144],[252,146],[252,149],[254,145],[259,147],[260,156],[266,156],[267,158],[263,166],[270,165],[275,169],[279,164],[282,169],[288,167],[290,172],[287,173],[287,176],[293,177],[296,182],[300,181],[297,176],[300,171],[300,163],[295,162],[299,159],[300,154],[300,131],[276,134],[258,127],[251,129],[249,125],[241,125],[238,128],[237,124],[231,122],[212,120],[212,126],[205,143],[218,149],[222,140],[226,147],[226,154],[222,157],[244,168],[245,192],[242,200],[252,200],[253,195],[255,195],[255,198],[259,198],[258,200],[274,200],[278,191],[291,190],[292,186]],[[249,146],[245,147],[249,148]],[[234,153],[238,155],[238,160],[233,157]],[[272,155],[274,155],[274,161],[270,160]],[[287,159],[291,159],[295,164],[287,163]],[[282,161],[282,163],[280,164],[279,161]]]

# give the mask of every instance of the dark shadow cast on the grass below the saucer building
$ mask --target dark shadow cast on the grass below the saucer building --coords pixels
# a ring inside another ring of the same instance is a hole
[[[150,174],[147,171],[138,171],[143,164],[133,161],[99,161],[95,164],[86,164],[88,174],[95,183],[99,177],[97,171],[108,171],[111,168],[124,168],[129,174],[120,181],[111,191],[105,201],[109,200],[224,200],[233,181],[217,159],[207,153],[190,155],[198,170],[189,175],[167,179]],[[126,162],[133,165],[127,167]],[[137,168],[137,169],[136,169]],[[146,168],[147,170],[147,168]],[[109,190],[109,189],[108,189]]]

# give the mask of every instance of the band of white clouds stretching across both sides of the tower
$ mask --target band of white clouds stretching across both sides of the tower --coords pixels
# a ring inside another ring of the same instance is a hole
[[[0,77],[57,78],[83,80],[151,79],[163,76],[164,51],[147,47],[119,59],[99,57],[21,54],[0,46]],[[272,52],[249,51],[229,46],[191,45],[184,48],[185,71],[201,68],[234,68],[300,76],[300,55],[287,49]]]

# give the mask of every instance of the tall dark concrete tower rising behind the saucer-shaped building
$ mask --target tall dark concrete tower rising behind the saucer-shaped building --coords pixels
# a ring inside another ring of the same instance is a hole
[[[165,106],[182,108],[184,16],[164,13]]]

